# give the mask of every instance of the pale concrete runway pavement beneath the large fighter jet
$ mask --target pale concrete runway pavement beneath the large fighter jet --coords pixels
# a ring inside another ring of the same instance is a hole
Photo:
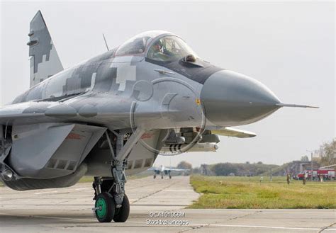
[[[91,183],[21,192],[0,188],[0,232],[336,233],[335,210],[184,209],[198,198],[188,176],[129,180],[131,207],[125,223],[97,222],[91,210],[93,193]],[[162,212],[166,216],[158,217]]]

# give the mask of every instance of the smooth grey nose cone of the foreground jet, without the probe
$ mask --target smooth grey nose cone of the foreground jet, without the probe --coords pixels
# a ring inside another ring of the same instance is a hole
[[[280,103],[264,84],[228,70],[216,72],[206,80],[201,101],[206,118],[218,126],[254,123],[274,113]]]

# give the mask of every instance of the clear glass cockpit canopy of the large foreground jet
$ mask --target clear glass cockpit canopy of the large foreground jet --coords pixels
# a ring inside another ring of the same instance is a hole
[[[116,56],[144,56],[157,62],[174,62],[188,55],[197,57],[184,40],[162,30],[135,35],[116,51]]]

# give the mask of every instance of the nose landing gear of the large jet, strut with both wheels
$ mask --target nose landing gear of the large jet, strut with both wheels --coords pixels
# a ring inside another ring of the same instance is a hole
[[[143,130],[137,129],[129,137],[126,132],[106,132],[106,140],[111,150],[111,174],[112,177],[94,177],[94,200],[93,208],[99,222],[125,222],[130,214],[130,202],[125,194],[125,168],[127,155],[140,139]],[[111,136],[115,140],[111,140]],[[111,143],[113,142],[113,144]]]

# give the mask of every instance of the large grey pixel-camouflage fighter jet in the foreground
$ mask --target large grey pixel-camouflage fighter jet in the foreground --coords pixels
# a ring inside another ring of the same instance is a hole
[[[167,31],[135,35],[69,69],[40,11],[28,36],[30,89],[0,108],[1,179],[24,191],[94,176],[99,222],[128,219],[126,176],[150,168],[158,154],[214,152],[218,135],[255,136],[232,126],[308,107],[281,103],[264,84],[204,61]]]

